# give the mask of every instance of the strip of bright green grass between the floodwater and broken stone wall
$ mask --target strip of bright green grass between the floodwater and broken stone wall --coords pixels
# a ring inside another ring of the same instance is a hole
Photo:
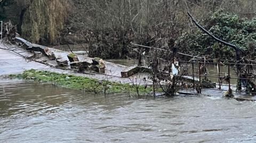
[[[95,93],[103,93],[107,89],[106,94],[119,94],[119,93],[136,93],[135,86],[128,83],[122,84],[117,82],[110,82],[107,80],[97,80],[87,77],[79,77],[69,74],[61,74],[49,71],[27,70],[23,72],[22,78],[26,80],[35,80],[37,82],[52,83],[61,87],[79,89]],[[149,94],[153,88],[139,86],[140,94]]]

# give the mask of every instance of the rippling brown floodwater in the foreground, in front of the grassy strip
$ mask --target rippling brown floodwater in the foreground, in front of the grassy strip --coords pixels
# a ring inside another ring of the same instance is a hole
[[[214,97],[107,98],[0,81],[0,142],[256,142],[256,104]]]

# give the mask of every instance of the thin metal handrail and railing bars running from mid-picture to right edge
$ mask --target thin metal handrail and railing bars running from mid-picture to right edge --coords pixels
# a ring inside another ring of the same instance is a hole
[[[156,50],[159,50],[159,51],[164,51],[164,52],[171,52],[169,49],[163,49],[163,47],[161,48],[156,48],[156,47],[149,47],[149,46],[143,46],[143,45],[139,45],[139,44],[132,44],[134,46],[138,46],[138,47],[145,47],[145,48],[149,48],[149,49],[156,49]],[[205,89],[203,88],[203,85],[219,85],[219,88],[218,89],[209,89],[209,90],[223,90],[221,89],[221,86],[228,86],[228,89],[231,90],[231,87],[236,87],[235,85],[230,85],[230,80],[231,79],[237,79],[237,80],[256,80],[256,78],[254,77],[251,77],[251,78],[242,78],[241,76],[238,76],[238,73],[230,73],[230,67],[234,67],[234,66],[237,66],[237,65],[244,65],[244,66],[247,66],[247,70],[246,70],[246,75],[254,75],[252,73],[250,73],[250,68],[251,67],[255,67],[256,66],[256,62],[254,61],[250,61],[249,63],[239,63],[239,61],[237,60],[220,60],[220,59],[214,59],[214,60],[217,60],[217,62],[215,62],[213,59],[208,59],[206,60],[207,62],[204,62],[205,59],[203,57],[199,57],[199,56],[194,56],[194,55],[188,55],[188,54],[184,54],[184,53],[179,53],[177,52],[177,54],[179,55],[186,55],[186,56],[191,56],[193,58],[197,58],[197,59],[194,59],[193,61],[179,61],[180,63],[183,63],[183,64],[187,64],[185,65],[186,67],[190,67],[191,70],[192,70],[192,73],[190,74],[186,74],[188,76],[192,76],[192,80],[193,80],[193,85],[195,86],[195,84],[197,84],[199,82],[201,88],[199,88],[199,93],[201,93],[201,89]],[[144,57],[150,57],[148,55],[141,55],[141,56],[144,56]],[[174,55],[173,55],[174,56]],[[164,61],[164,62],[168,62],[168,63],[172,63],[173,61],[171,60],[165,60],[163,58],[158,58],[158,60],[160,61]],[[198,66],[197,68],[195,67],[195,64]],[[202,68],[202,65],[206,65],[206,64],[214,64],[214,65],[217,65],[217,69],[218,69],[218,72],[203,72],[201,71],[201,68]],[[225,73],[225,72],[221,72],[220,71],[220,65],[225,65],[227,66],[228,68],[228,72]],[[180,65],[182,67],[182,65]],[[236,71],[236,69],[234,69],[234,71]],[[204,73],[209,73],[209,74],[218,74],[217,76],[214,76],[214,75],[204,75]],[[221,79],[220,78],[223,78],[221,77],[221,75],[223,74],[228,74],[228,77],[229,77],[229,80],[227,81],[228,85],[222,85],[222,82],[221,82]],[[238,77],[230,77],[230,75],[237,75]],[[195,77],[198,78],[197,79],[197,83],[195,83]],[[215,83],[215,84],[211,84],[211,83],[203,83],[202,82],[202,79],[203,78],[217,78],[218,79],[218,82],[219,83]],[[226,91],[226,90],[223,90],[223,91]],[[251,94],[256,94],[256,92],[247,92],[247,91],[237,91],[237,92],[246,92],[246,93],[251,93]]]

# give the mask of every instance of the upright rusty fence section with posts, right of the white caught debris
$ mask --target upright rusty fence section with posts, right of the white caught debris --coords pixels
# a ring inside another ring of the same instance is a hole
[[[208,89],[208,90],[221,90],[221,91],[227,91],[225,89],[222,89],[223,86],[227,86],[228,90],[231,90],[231,87],[236,87],[238,85],[238,82],[241,82],[241,86],[245,86],[247,82],[252,82],[256,80],[256,74],[254,74],[253,69],[254,66],[256,67],[256,64],[247,64],[247,63],[237,63],[236,61],[232,60],[217,60],[218,62],[203,62],[205,60],[195,60],[193,62],[191,61],[179,61],[182,64],[189,64],[190,67],[190,74],[186,74],[187,76],[190,76],[193,79],[193,87],[200,86],[199,92],[201,93],[201,89]],[[207,61],[213,61],[213,60],[207,60]],[[207,67],[207,65],[214,65],[217,67],[217,72],[212,71],[205,71],[204,67]],[[227,68],[227,71],[221,71],[222,68]],[[243,66],[242,71],[237,70],[237,66]],[[233,72],[231,72],[233,71]],[[203,80],[213,78],[217,82],[203,82]],[[231,84],[231,80],[235,80],[236,84]],[[226,82],[226,84],[222,84],[222,82]],[[254,84],[253,84],[254,85]],[[215,88],[204,88],[207,86],[215,86]],[[256,87],[252,87],[252,89]],[[255,91],[243,91],[243,90],[236,90],[236,92],[243,92],[247,94],[256,94]]]

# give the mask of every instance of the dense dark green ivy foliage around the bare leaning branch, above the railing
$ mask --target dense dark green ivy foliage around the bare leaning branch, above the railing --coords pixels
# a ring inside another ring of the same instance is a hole
[[[256,18],[249,20],[236,14],[218,11],[204,20],[204,24],[200,23],[215,37],[234,44],[245,52],[252,50],[256,43]],[[219,44],[199,29],[183,33],[179,37],[179,43],[183,52],[193,55],[230,59],[235,56],[233,48]]]

